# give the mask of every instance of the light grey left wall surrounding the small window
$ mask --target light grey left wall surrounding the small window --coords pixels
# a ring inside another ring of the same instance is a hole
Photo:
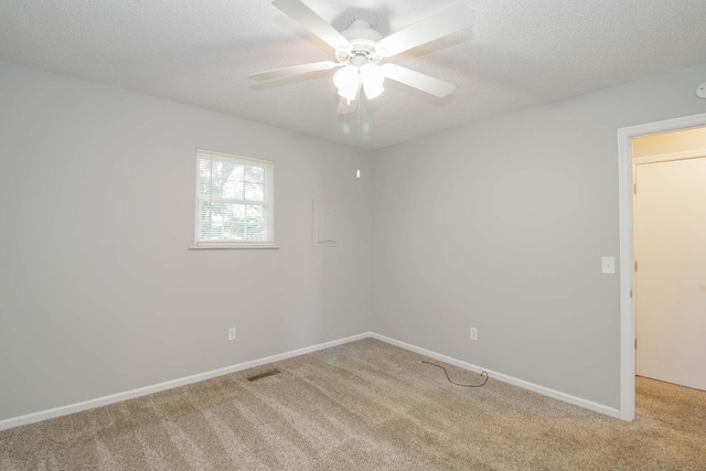
[[[370,330],[367,153],[1,62],[0,104],[0,420]],[[196,148],[276,161],[280,249],[186,249]]]

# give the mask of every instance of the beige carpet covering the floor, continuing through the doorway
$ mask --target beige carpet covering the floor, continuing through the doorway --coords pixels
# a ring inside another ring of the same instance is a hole
[[[704,392],[638,378],[623,422],[421,360],[368,339],[19,427],[0,469],[706,470]]]

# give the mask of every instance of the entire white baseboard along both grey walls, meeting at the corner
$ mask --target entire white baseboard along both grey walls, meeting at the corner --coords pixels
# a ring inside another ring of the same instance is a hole
[[[600,414],[605,414],[610,417],[620,418],[620,410],[614,409],[612,407],[603,406],[601,404],[597,404],[590,400],[581,399],[580,397],[571,396],[569,394],[560,393],[558,390],[550,389],[548,387],[538,386],[533,383],[528,383],[523,379],[517,379],[512,376],[504,375],[502,373],[496,373],[488,368],[482,368],[480,366],[473,365],[471,363],[462,362],[460,360],[452,358],[450,356],[442,355],[440,353],[432,352],[430,350],[421,349],[415,345],[410,345],[405,342],[400,342],[395,339],[391,339],[385,335],[381,335],[374,332],[365,332],[357,335],[349,336],[345,339],[339,339],[331,342],[320,343],[318,345],[307,346],[304,349],[292,350],[290,352],[279,353],[277,355],[266,356],[264,358],[253,360],[250,362],[238,363],[236,365],[226,366],[218,370],[212,370],[205,373],[199,373],[191,376],[185,376],[178,379],[168,381],[164,383],[154,384],[151,386],[140,387],[137,389],[126,390],[124,393],[113,394],[109,396],[98,397],[96,399],[84,400],[82,403],[69,404],[66,406],[55,407],[53,409],[40,410],[38,413],[28,414],[20,417],[13,417],[4,420],[0,420],[0,431],[8,430],[10,428],[34,424],[42,420],[51,419],[54,417],[66,416],[68,414],[79,413],[82,410],[93,409],[95,407],[107,406],[109,404],[119,403],[121,400],[133,399],[140,396],[147,396],[148,394],[159,393],[160,390],[171,389],[173,387],[185,386],[188,384],[197,383],[205,379],[211,379],[216,376],[226,375],[229,373],[239,372],[243,370],[252,368],[255,366],[265,365],[267,363],[279,362],[282,360],[291,358],[293,356],[303,355],[306,353],[317,352],[319,350],[329,349],[331,346],[341,345],[349,342],[355,342],[357,340],[363,340],[367,338],[377,339],[382,342],[389,343],[392,345],[399,346],[405,350],[409,350],[411,352],[419,353],[421,355],[429,356],[431,358],[439,360],[441,362],[446,362],[448,364],[461,367],[463,370],[468,370],[474,373],[481,373],[483,371],[488,372],[488,374],[493,379],[499,379],[504,383],[512,384],[514,386],[520,386],[525,389],[533,390],[535,393],[553,397],[555,399],[564,400],[565,403],[574,404],[576,406],[585,407],[590,410],[595,410]]]

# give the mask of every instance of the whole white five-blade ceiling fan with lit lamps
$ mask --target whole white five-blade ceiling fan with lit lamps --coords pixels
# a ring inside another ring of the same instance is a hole
[[[381,62],[441,36],[456,33],[473,24],[473,12],[463,3],[454,3],[419,22],[383,38],[363,20],[354,20],[339,32],[300,0],[275,0],[272,4],[300,22],[333,47],[334,61],[313,62],[291,67],[249,74],[255,81],[271,81],[310,72],[340,68],[333,83],[341,96],[339,113],[355,111],[361,88],[368,99],[383,93],[385,78],[399,82],[421,92],[445,97],[456,86],[416,71]]]

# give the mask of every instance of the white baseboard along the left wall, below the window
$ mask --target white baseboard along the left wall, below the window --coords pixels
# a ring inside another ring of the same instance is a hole
[[[266,356],[264,358],[253,360],[250,362],[238,363],[236,365],[212,370],[210,372],[199,373],[195,375],[168,381],[164,383],[159,383],[151,386],[145,386],[145,387],[140,387],[132,390],[126,390],[124,393],[117,393],[117,394],[111,394],[109,396],[98,397],[96,399],[88,399],[88,400],[84,400],[76,404],[54,407],[53,409],[41,410],[39,413],[32,413],[32,414],[28,414],[20,417],[13,417],[9,419],[0,420],[0,431],[19,427],[22,425],[39,422],[39,421],[51,419],[54,417],[61,417],[61,416],[66,416],[68,414],[79,413],[82,410],[93,409],[95,407],[107,406],[109,404],[119,403],[121,400],[133,399],[136,397],[146,396],[148,394],[159,393],[160,390],[171,389],[173,387],[185,386],[192,383],[199,383],[201,381],[211,379],[216,376],[227,375],[229,373],[235,373],[235,372],[252,368],[255,366],[260,366],[267,363],[279,362],[282,360],[291,358],[292,356],[299,356],[306,353],[317,352],[319,350],[329,349],[331,346],[341,345],[343,343],[355,342],[356,340],[367,339],[368,336],[371,336],[370,333],[361,333],[361,334],[349,336],[345,339],[333,340],[331,342],[324,342],[318,345],[292,350],[290,352],[279,353],[277,355]]]

